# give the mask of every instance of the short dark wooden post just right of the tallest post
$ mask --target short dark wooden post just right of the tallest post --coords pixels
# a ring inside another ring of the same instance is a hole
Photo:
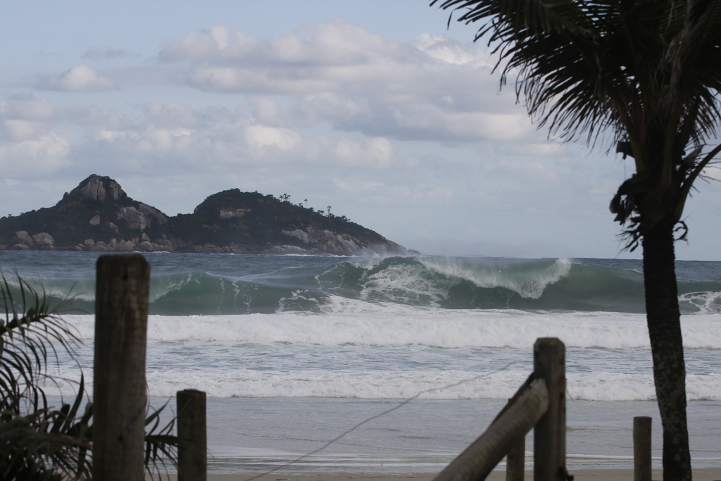
[[[208,479],[208,441],[205,430],[205,392],[178,391],[178,481]]]

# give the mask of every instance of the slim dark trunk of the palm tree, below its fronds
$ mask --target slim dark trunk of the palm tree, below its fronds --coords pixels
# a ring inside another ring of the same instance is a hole
[[[673,253],[674,224],[660,222],[643,235],[643,277],[653,379],[663,425],[663,479],[691,481],[686,365]]]

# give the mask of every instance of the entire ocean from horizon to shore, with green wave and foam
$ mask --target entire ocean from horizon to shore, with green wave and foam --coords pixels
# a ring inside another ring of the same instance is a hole
[[[566,345],[571,470],[632,467],[638,415],[653,417],[660,456],[640,261],[146,258],[151,402],[180,389],[208,394],[209,472],[438,472],[532,371],[537,337]],[[77,362],[61,355],[53,369],[68,380],[82,370],[91,392],[96,260],[0,252],[10,283],[17,270],[53,301],[70,294],[63,317],[83,344]],[[678,261],[677,275],[691,454],[694,467],[715,467],[721,262]],[[61,380],[47,389],[59,402],[74,387]]]

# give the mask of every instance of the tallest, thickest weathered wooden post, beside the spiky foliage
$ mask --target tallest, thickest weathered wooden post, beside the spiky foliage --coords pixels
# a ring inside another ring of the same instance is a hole
[[[143,481],[150,265],[102,255],[95,286],[94,480]]]

